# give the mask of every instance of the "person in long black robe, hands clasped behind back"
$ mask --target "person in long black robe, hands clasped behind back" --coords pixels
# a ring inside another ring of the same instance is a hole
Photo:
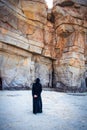
[[[33,96],[33,113],[42,113],[42,99],[41,99],[42,85],[40,79],[37,78],[32,86],[32,96]]]

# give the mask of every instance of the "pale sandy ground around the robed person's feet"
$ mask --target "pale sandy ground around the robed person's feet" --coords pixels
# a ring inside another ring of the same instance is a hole
[[[0,130],[87,130],[87,94],[43,91],[32,113],[31,91],[0,91]]]

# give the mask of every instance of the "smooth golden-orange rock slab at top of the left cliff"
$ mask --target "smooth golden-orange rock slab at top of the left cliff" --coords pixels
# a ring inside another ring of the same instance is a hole
[[[21,1],[22,10],[27,18],[46,23],[46,5],[36,1]]]

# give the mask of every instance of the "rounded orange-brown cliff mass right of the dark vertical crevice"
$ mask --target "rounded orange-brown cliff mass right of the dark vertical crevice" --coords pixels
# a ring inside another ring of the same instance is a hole
[[[84,45],[86,41],[86,1],[54,0],[56,49],[54,62],[55,83],[62,82],[69,88],[80,88],[85,71]],[[55,84],[54,83],[54,84]]]

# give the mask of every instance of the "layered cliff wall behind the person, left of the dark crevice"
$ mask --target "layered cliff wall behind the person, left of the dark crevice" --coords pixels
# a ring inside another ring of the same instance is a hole
[[[3,89],[52,85],[52,28],[44,0],[0,1],[0,75]],[[45,33],[46,32],[46,33]],[[49,41],[48,41],[49,40]],[[50,51],[51,50],[51,51]]]

